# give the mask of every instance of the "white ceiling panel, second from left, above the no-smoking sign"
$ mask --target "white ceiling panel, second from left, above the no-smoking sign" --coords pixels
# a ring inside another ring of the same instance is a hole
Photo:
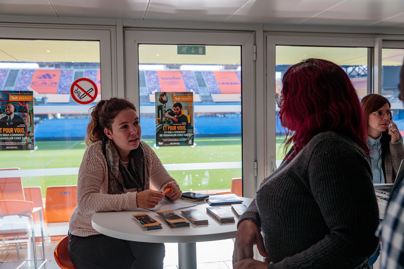
[[[51,0],[61,17],[143,19],[147,0]]]

